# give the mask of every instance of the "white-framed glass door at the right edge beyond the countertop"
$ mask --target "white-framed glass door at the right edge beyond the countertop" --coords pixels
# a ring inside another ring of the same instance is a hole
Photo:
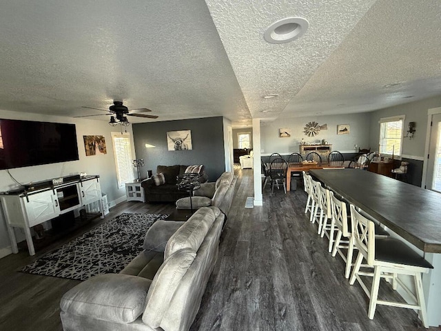
[[[441,192],[441,114],[432,116],[426,188]]]

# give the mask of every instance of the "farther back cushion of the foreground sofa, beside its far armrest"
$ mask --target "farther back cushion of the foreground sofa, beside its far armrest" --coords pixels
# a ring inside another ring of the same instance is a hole
[[[211,208],[202,207],[198,209],[192,217],[170,237],[165,246],[164,259],[167,259],[167,257],[170,257],[174,252],[184,248],[190,248],[192,252],[196,253],[205,235],[209,229],[212,228],[215,219],[216,215]]]

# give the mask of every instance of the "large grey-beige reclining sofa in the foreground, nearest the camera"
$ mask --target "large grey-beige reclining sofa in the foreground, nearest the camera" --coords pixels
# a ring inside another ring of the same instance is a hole
[[[186,222],[156,221],[145,251],[119,274],[92,277],[65,293],[63,330],[189,330],[218,257],[224,219],[218,208],[206,207]]]

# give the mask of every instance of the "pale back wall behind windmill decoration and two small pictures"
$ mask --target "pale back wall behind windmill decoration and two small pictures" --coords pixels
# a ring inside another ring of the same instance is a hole
[[[327,124],[327,130],[320,130],[316,137],[307,137],[303,132],[306,123],[316,121],[320,126]],[[298,152],[300,140],[303,138],[307,143],[325,139],[332,144],[332,150],[340,152],[353,152],[354,145],[360,148],[369,148],[370,113],[345,114],[331,116],[297,117],[294,119],[277,119],[265,123],[260,122],[261,149],[263,155],[274,152],[291,154]],[[337,134],[338,124],[349,124],[349,134]],[[291,137],[279,138],[279,128],[290,128]]]

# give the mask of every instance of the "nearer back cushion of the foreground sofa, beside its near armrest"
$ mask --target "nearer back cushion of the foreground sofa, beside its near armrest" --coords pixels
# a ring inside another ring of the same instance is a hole
[[[147,293],[147,305],[143,322],[151,328],[158,328],[169,308],[170,301],[182,277],[192,265],[196,253],[190,249],[178,250],[165,259],[152,281]]]

